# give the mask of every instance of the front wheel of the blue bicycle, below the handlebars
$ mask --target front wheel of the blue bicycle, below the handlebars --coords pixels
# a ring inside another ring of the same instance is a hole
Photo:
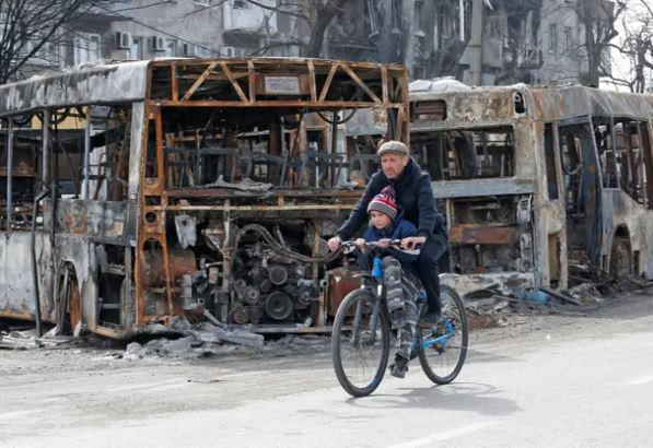
[[[334,369],[340,386],[352,397],[372,393],[385,374],[389,325],[381,305],[370,291],[352,291],[334,320]]]

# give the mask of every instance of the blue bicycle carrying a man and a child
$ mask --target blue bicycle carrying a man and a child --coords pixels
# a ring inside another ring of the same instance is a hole
[[[392,240],[398,248],[400,240]],[[345,251],[355,248],[343,241]],[[381,385],[390,349],[390,317],[383,284],[383,262],[376,243],[368,243],[374,255],[372,271],[362,275],[361,287],[350,292],[336,313],[331,345],[334,369],[340,386],[352,397],[365,397]],[[465,307],[458,294],[441,285],[442,319],[436,327],[421,321],[425,293],[418,299],[418,331],[410,359],[419,357],[427,377],[446,385],[460,373],[467,354],[468,328]]]

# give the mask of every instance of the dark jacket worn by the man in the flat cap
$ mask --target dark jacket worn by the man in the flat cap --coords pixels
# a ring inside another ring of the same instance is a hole
[[[431,176],[410,157],[398,179],[388,179],[381,168],[374,173],[349,219],[338,228],[341,239],[350,239],[361,228],[368,219],[368,204],[388,185],[395,189],[397,205],[404,210],[404,217],[415,224],[418,236],[446,235],[444,217],[435,210]]]

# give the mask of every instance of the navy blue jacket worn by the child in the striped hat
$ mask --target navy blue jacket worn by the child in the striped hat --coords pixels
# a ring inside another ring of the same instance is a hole
[[[387,227],[376,228],[374,226],[369,226],[368,229],[363,233],[363,239],[365,241],[378,241],[383,238],[388,239],[401,239],[407,238],[409,236],[417,235],[417,228],[415,225],[410,223],[410,221],[403,219],[403,213],[399,212],[397,219],[394,223],[389,224]],[[401,269],[408,271],[412,274],[416,274],[415,269],[415,261],[417,261],[418,255],[410,255],[403,252],[401,250],[397,250],[393,247],[388,247],[384,249],[381,254],[382,257],[392,256],[395,257],[401,263]],[[362,254],[360,250],[357,252],[358,262],[362,269],[370,271],[372,269],[372,254],[371,251],[366,251]]]

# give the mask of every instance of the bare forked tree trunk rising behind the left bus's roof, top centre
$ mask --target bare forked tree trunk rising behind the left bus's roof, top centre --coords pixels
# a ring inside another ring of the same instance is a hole
[[[348,0],[298,0],[271,5],[258,0],[246,1],[264,10],[287,14],[304,22],[308,27],[310,37],[302,46],[306,50],[305,56],[310,58],[320,56],[327,27],[348,3]]]

